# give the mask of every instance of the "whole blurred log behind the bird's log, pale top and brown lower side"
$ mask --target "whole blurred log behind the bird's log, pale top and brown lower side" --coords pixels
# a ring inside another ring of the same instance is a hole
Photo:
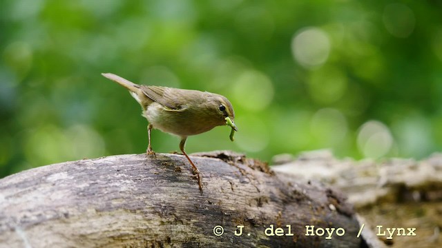
[[[322,150],[297,158],[276,156],[274,163],[280,164],[273,166],[276,172],[291,174],[295,180],[319,180],[346,194],[365,224],[363,235],[372,247],[442,247],[442,154],[422,161],[354,161]],[[416,228],[416,236],[376,236],[378,225],[383,231]]]

